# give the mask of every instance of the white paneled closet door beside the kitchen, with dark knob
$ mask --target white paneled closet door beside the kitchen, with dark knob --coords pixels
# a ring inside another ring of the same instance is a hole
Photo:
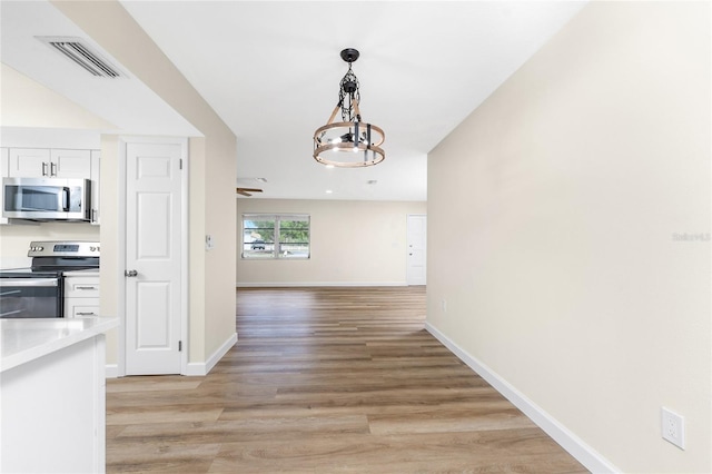
[[[126,374],[180,374],[179,144],[126,146]]]

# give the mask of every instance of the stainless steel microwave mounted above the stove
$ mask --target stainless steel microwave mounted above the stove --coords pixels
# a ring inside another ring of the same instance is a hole
[[[2,217],[32,220],[90,220],[91,180],[4,178]]]

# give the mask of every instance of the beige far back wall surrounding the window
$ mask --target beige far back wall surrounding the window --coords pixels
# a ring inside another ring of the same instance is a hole
[[[406,218],[425,203],[237,199],[241,215],[308,214],[312,258],[240,260],[237,286],[405,285]],[[237,235],[238,258],[241,236]]]

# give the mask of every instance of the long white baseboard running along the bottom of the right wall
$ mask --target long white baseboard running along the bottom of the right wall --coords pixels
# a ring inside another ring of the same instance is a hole
[[[469,368],[475,371],[482,378],[487,381],[497,392],[506,397],[514,406],[520,408],[530,417],[540,428],[546,432],[556,443],[583,464],[593,473],[620,473],[621,470],[611,464],[605,457],[599,454],[594,448],[584,443],[575,434],[568,431],[564,425],[558,423],[548,413],[528,399],[523,393],[517,391],[507,381],[497,375],[494,371],[469,355],[462,347],[451,340],[429,323],[425,323],[425,329],[435,336],[445,347],[455,354],[462,362],[467,364]]]

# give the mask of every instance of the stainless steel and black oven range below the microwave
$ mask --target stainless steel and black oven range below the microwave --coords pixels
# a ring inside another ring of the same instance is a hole
[[[99,268],[99,243],[32,241],[29,268],[0,270],[0,318],[63,317],[68,270]]]

